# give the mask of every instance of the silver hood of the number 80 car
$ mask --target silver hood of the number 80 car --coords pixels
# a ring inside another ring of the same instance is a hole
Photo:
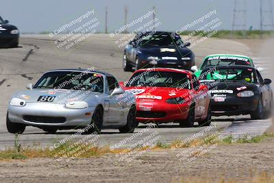
[[[53,96],[55,99],[51,103],[68,103],[70,101],[83,101],[86,97],[90,97],[91,93],[86,93],[83,90],[50,90],[42,88],[34,88],[32,90],[23,90],[16,93],[15,97],[29,102],[37,102],[40,96]],[[93,93],[99,94],[99,93]]]

